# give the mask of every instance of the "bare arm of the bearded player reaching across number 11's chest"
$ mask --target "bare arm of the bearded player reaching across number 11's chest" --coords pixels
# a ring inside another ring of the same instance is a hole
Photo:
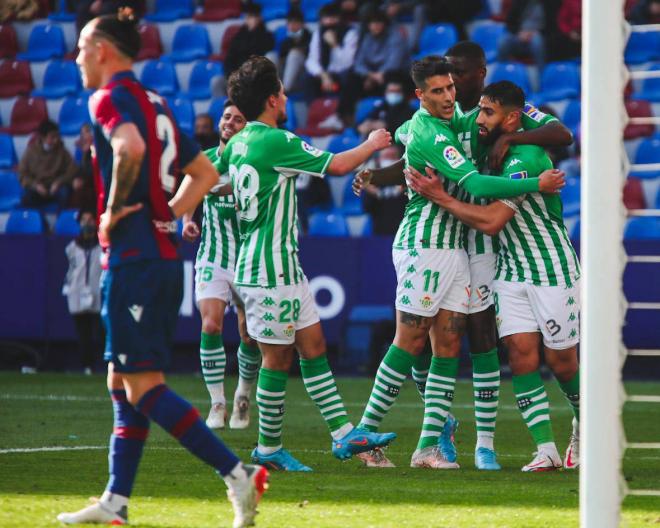
[[[416,193],[437,203],[461,222],[487,235],[499,233],[515,214],[512,207],[499,201],[483,206],[457,200],[445,191],[442,179],[437,177],[429,167],[426,168],[426,175],[421,174],[413,167],[406,168],[405,174],[408,185]]]

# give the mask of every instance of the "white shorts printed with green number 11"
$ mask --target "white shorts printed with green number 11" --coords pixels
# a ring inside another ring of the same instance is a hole
[[[396,309],[434,317],[439,310],[468,313],[470,267],[462,249],[393,249]]]

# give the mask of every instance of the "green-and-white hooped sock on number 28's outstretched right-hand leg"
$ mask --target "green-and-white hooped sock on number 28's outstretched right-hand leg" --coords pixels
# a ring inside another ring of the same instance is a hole
[[[332,437],[335,439],[344,437],[352,427],[344,427],[350,425],[348,413],[337,390],[328,357],[324,354],[314,359],[300,358],[300,372],[307,394],[321,411]]]

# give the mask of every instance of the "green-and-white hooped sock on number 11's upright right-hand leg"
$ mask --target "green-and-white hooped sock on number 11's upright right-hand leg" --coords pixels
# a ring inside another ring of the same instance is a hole
[[[438,437],[442,434],[454,400],[457,374],[458,358],[431,359],[424,393],[424,423],[417,449],[438,444]]]

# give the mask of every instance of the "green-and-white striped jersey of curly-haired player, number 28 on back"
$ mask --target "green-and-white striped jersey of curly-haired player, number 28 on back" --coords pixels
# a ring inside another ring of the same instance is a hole
[[[323,177],[332,154],[285,130],[253,121],[234,135],[221,158],[239,205],[239,286],[298,284],[298,204],[295,177]]]

